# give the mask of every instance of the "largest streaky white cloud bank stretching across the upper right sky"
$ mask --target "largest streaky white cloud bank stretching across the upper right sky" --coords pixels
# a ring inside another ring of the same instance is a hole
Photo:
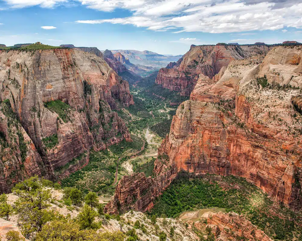
[[[153,31],[232,33],[302,28],[302,0],[76,0],[99,11],[129,10],[124,18],[78,23],[130,24]]]

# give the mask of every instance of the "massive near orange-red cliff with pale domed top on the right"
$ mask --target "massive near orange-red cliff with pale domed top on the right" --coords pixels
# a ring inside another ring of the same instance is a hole
[[[156,178],[171,172],[171,182],[182,170],[238,175],[301,209],[301,56],[299,46],[279,46],[261,64],[231,61],[212,83],[200,78],[173,117],[155,161]],[[125,184],[118,188],[127,192]]]

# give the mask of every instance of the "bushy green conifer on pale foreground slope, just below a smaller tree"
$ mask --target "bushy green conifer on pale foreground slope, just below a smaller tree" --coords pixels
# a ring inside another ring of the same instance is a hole
[[[78,215],[81,229],[98,229],[99,225],[94,221],[96,216],[98,216],[97,212],[85,204]]]

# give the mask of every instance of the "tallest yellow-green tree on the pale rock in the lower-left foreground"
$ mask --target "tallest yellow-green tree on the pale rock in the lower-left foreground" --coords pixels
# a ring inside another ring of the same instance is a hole
[[[47,210],[50,207],[50,190],[43,189],[35,176],[16,184],[14,193],[19,197],[14,203],[22,234],[27,239],[34,239],[43,225],[55,217],[52,211]]]

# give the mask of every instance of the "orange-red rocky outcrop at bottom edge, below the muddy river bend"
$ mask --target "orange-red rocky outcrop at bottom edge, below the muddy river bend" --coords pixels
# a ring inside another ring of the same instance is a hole
[[[215,213],[208,218],[207,224],[212,228],[216,240],[235,241],[244,238],[246,240],[272,241],[262,230],[246,220],[244,215],[234,212]],[[198,227],[198,225],[196,226]]]

